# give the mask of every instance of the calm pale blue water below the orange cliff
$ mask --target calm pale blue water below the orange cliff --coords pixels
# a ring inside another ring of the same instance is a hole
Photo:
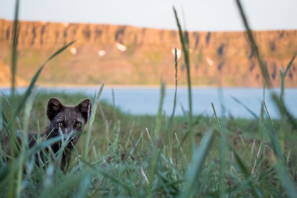
[[[82,93],[93,99],[98,88],[40,88],[39,92],[64,92],[64,93]],[[9,89],[1,89],[4,94],[9,93]],[[18,93],[23,93],[25,89],[17,89]],[[275,89],[280,93],[280,89]],[[236,102],[232,97],[239,99],[256,115],[260,114],[261,101],[263,99],[263,89],[261,88],[194,88],[193,92],[193,114],[200,113],[204,115],[212,115],[213,110],[211,102],[213,102],[217,114],[222,114],[221,104],[225,106],[226,115],[232,115],[237,118],[252,118],[241,104]],[[273,118],[278,118],[279,113],[275,108],[269,92],[266,90],[265,102],[268,111]],[[135,115],[148,114],[155,115],[158,111],[160,100],[159,88],[114,88],[115,105],[121,110]],[[112,103],[112,89],[104,88],[101,99]],[[163,109],[166,115],[171,115],[174,101],[174,88],[167,88]],[[285,104],[289,111],[297,117],[297,89],[287,88],[285,90]],[[188,110],[188,92],[187,88],[178,88],[176,115],[183,115],[182,107]]]

